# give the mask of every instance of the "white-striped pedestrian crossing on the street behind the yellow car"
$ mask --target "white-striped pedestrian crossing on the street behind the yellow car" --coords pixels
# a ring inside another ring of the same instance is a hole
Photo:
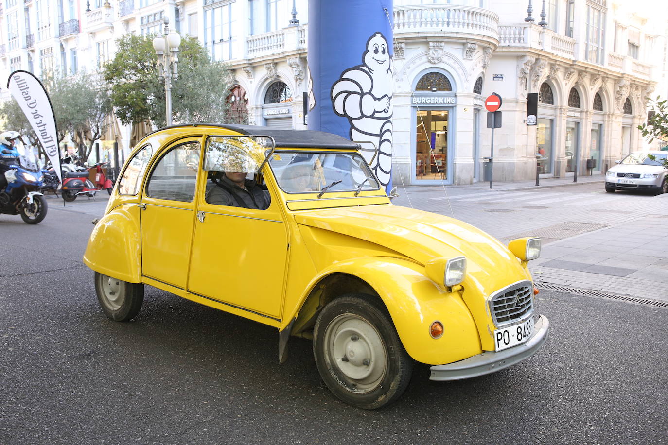
[[[610,201],[625,201],[628,199],[638,199],[635,195],[623,195],[621,193],[606,194],[602,193],[565,193],[555,192],[546,193],[545,191],[489,191],[483,195],[459,195],[459,196],[439,196],[429,197],[432,201],[445,201],[462,203],[515,203],[518,201],[526,201],[532,205],[547,205],[557,204],[573,207],[585,207],[592,204],[601,204]]]

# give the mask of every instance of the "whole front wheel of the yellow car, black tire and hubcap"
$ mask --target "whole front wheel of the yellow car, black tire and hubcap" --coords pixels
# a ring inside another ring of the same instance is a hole
[[[387,309],[364,294],[341,296],[323,308],[313,329],[313,355],[331,392],[366,410],[397,400],[413,372]]]

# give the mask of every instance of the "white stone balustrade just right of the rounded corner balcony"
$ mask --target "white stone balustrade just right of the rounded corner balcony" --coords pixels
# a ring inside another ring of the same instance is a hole
[[[499,25],[500,47],[531,47],[575,59],[575,40],[529,23]]]

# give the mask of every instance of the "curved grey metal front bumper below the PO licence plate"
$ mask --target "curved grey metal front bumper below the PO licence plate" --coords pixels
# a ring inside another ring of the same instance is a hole
[[[461,380],[492,374],[492,372],[508,368],[508,366],[512,366],[536,354],[536,351],[547,340],[549,328],[550,320],[546,316],[540,315],[535,325],[534,334],[526,343],[499,352],[485,351],[482,354],[465,358],[459,362],[432,366],[430,368],[432,375],[429,380]]]

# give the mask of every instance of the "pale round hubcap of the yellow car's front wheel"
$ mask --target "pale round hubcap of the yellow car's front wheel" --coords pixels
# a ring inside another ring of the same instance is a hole
[[[349,380],[353,392],[376,388],[387,370],[387,353],[379,332],[354,314],[337,316],[325,331],[325,357]]]

